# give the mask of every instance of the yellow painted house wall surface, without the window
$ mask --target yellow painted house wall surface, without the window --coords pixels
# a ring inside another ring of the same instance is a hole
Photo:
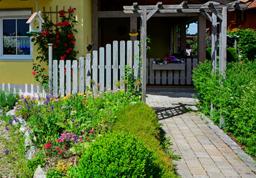
[[[21,0],[1,0],[0,10],[15,10],[15,9],[28,9],[33,10],[34,4],[33,0],[21,1]],[[77,54],[77,59],[79,56],[85,56],[87,53],[87,38],[89,38],[89,43],[91,43],[91,0],[37,0],[38,10],[43,11],[42,7],[45,7],[45,11],[51,10],[62,10],[65,6],[65,10],[68,7],[76,7],[77,10],[75,14],[77,15],[76,28],[78,33],[75,34],[76,50],[79,50]],[[88,37],[87,37],[88,36]],[[36,47],[33,47],[33,62],[36,59]],[[15,84],[15,85],[38,85],[38,83],[33,82],[32,67],[33,62],[0,62],[0,84]]]

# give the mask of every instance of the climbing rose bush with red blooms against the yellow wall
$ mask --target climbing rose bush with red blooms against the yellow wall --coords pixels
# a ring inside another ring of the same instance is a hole
[[[35,82],[40,82],[42,87],[48,87],[48,74],[45,73],[45,68],[41,63],[46,62],[48,65],[48,43],[53,45],[53,59],[65,60],[76,59],[77,50],[74,50],[76,39],[74,33],[77,30],[74,28],[74,24],[77,23],[74,10],[76,8],[60,10],[60,22],[54,24],[51,22],[46,14],[42,15],[45,23],[42,24],[42,33],[32,34],[32,42],[37,46],[38,56],[36,56],[36,62],[33,63],[33,76]]]

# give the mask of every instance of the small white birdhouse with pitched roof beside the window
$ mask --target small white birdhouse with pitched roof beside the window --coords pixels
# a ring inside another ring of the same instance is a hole
[[[29,24],[29,32],[27,33],[42,33],[42,23],[45,23],[41,17],[41,11],[33,13],[26,24]],[[38,27],[36,27],[38,25]]]

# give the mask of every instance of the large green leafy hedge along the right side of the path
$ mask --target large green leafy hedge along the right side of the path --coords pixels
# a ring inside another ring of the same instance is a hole
[[[219,124],[221,113],[225,130],[246,145],[246,151],[253,156],[256,156],[255,81],[256,62],[228,63],[225,79],[219,73],[211,74],[210,61],[193,70],[199,107],[208,115],[211,102],[219,108],[214,111],[214,122]]]

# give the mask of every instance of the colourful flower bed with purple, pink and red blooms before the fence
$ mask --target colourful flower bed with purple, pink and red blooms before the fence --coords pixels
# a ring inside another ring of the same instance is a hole
[[[172,157],[173,152],[167,154],[168,149],[163,146],[163,137],[159,136],[160,130],[156,114],[144,104],[141,107],[140,98],[141,96],[134,96],[124,90],[88,91],[63,98],[57,96],[46,96],[46,98],[19,96],[14,107],[16,116],[0,117],[0,119],[4,119],[4,127],[8,128],[6,132],[10,132],[10,135],[19,139],[19,143],[14,143],[11,140],[9,144],[6,144],[7,140],[2,140],[8,153],[2,153],[1,156],[5,157],[7,162],[20,162],[22,164],[19,164],[14,170],[10,169],[10,174],[2,174],[2,176],[15,174],[19,177],[32,177],[40,165],[42,171],[45,171],[45,174],[47,172],[47,177],[80,177],[79,175],[82,174],[79,170],[87,173],[90,171],[88,177],[97,177],[95,174],[97,171],[100,171],[105,177],[106,175],[109,175],[107,177],[117,177],[118,175],[127,175],[128,177],[132,177],[132,175],[135,177],[170,177],[171,175],[176,177],[171,163],[172,158],[174,158]],[[144,136],[141,136],[132,132],[132,128],[129,128],[128,131],[118,129],[119,118],[121,116],[129,117],[130,113],[124,114],[127,108],[132,109],[132,111],[139,108],[141,113],[143,111],[150,112],[150,115],[143,116],[149,118],[149,123],[152,122],[153,125],[142,125],[138,120],[138,118],[141,119],[140,115],[133,117],[130,122],[134,122],[135,125],[137,122],[141,131],[152,128],[152,131],[155,132],[152,138],[155,140],[153,141],[154,144],[144,140],[144,138],[149,139],[152,136],[151,133],[145,132]],[[26,125],[22,126],[17,117],[25,119]],[[13,123],[17,123],[17,127]],[[25,130],[27,137],[22,136],[24,133],[19,132],[20,127]],[[24,144],[28,136],[31,139],[31,145],[25,148]],[[138,155],[141,156],[129,157],[130,161],[134,162],[133,165],[118,161],[119,159],[115,159],[115,161],[108,159],[106,162],[109,163],[106,164],[106,167],[97,165],[100,162],[91,162],[92,165],[96,165],[94,168],[97,170],[92,171],[92,168],[83,164],[84,157],[97,156],[95,148],[107,149],[108,144],[101,146],[104,145],[103,142],[105,140],[111,142],[115,138],[121,138],[118,145],[115,142],[112,145],[112,149],[118,154],[112,155],[112,152],[108,151],[104,151],[104,153],[108,152],[106,154],[109,154],[110,157],[117,155],[125,157],[129,155],[129,151],[137,155],[136,150],[142,149],[142,152],[138,152]],[[133,150],[130,150],[130,147],[127,147],[127,153],[123,149],[118,152],[119,147],[123,148],[127,143],[136,145],[139,149],[132,148]],[[13,157],[16,151],[12,149],[12,144],[19,146],[17,149],[21,154],[17,157],[19,160]],[[25,151],[33,146],[36,154],[33,154],[31,159],[25,159]],[[166,150],[165,152],[163,148]],[[166,162],[163,162],[161,156],[164,156]],[[144,163],[141,165],[141,162]],[[112,164],[118,164],[118,166],[112,167]]]

